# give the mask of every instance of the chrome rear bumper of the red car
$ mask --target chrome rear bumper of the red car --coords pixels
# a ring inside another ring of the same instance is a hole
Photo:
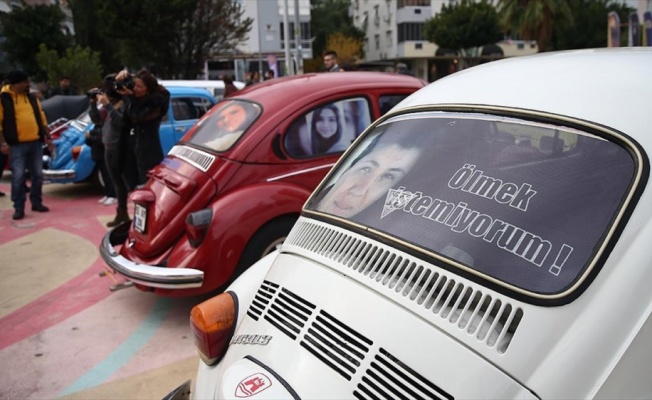
[[[129,224],[122,224],[104,235],[100,244],[100,255],[111,269],[139,285],[164,289],[187,289],[201,287],[204,271],[192,268],[158,267],[138,264],[118,254],[114,244],[126,240]]]

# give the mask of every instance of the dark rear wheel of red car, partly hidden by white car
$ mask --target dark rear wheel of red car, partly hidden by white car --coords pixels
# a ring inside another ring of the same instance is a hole
[[[245,246],[231,281],[256,261],[276,250],[276,247],[287,238],[296,220],[296,217],[281,217],[263,225]]]

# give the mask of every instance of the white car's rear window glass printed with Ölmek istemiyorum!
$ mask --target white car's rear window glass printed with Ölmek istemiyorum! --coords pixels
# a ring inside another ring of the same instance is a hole
[[[630,150],[578,126],[397,116],[345,154],[306,210],[454,260],[467,276],[559,297],[589,275],[621,218],[640,173]]]

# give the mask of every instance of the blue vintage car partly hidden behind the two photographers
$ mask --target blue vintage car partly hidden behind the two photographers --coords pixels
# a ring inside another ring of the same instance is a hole
[[[170,108],[159,129],[163,154],[167,154],[216,103],[215,97],[205,89],[177,86],[166,86],[166,89],[170,91]],[[43,175],[46,181],[76,183],[94,180],[98,185],[103,185],[95,161],[91,159],[91,149],[85,144],[84,134],[92,128],[88,110],[63,125],[51,128],[55,149],[44,157]]]

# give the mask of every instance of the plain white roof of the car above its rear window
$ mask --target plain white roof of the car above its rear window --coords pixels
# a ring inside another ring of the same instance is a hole
[[[620,130],[652,146],[652,48],[540,53],[456,72],[409,96],[411,106],[476,104],[571,116]]]

